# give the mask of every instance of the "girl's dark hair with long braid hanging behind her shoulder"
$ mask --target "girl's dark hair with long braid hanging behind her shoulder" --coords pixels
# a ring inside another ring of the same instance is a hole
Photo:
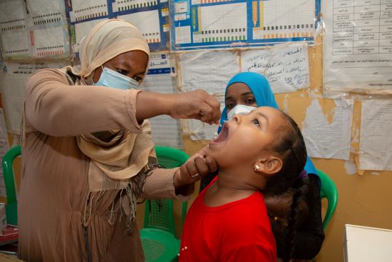
[[[284,119],[288,124],[279,127],[277,137],[279,140],[274,141],[267,149],[277,153],[282,159],[282,169],[270,177],[263,191],[266,196],[277,196],[285,193],[289,188],[294,189],[292,196],[292,204],[290,206],[289,215],[287,217],[287,231],[285,238],[286,245],[284,248],[283,261],[290,261],[294,253],[295,228],[297,223],[297,208],[308,191],[309,178],[301,177],[299,174],[304,171],[306,163],[306,146],[301,130],[296,122],[287,114],[282,112]]]

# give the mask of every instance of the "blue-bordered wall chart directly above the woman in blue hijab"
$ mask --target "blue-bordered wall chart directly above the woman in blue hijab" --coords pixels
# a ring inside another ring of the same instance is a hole
[[[312,41],[319,0],[172,0],[171,49]]]

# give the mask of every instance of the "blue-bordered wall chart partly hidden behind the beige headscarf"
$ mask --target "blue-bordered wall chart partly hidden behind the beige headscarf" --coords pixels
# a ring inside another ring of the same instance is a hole
[[[130,21],[138,27],[151,51],[168,49],[170,26],[167,0],[70,0],[67,3],[71,41],[76,53],[81,38],[93,26],[108,18]]]

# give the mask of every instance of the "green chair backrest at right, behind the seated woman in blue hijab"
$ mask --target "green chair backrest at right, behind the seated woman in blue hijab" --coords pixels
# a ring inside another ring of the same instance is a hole
[[[317,174],[321,180],[320,196],[328,200],[328,207],[326,208],[326,214],[323,219],[323,229],[325,231],[338,205],[338,190],[334,181],[326,173],[317,169]]]

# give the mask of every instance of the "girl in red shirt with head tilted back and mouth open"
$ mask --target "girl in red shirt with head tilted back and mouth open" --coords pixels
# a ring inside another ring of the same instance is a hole
[[[298,177],[304,172],[306,147],[294,120],[271,107],[234,115],[209,143],[206,156],[217,161],[219,176],[187,213],[179,260],[277,261],[264,195],[303,183]],[[300,200],[298,191],[288,220],[289,248]],[[287,251],[285,261],[291,253]]]

